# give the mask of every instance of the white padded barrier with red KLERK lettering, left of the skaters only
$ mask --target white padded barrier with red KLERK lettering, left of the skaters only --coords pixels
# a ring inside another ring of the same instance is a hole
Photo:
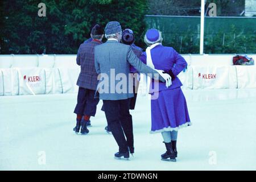
[[[77,93],[80,68],[0,69],[0,96]]]

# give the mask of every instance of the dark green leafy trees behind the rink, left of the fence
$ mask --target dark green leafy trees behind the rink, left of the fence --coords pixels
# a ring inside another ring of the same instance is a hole
[[[90,37],[92,24],[117,20],[142,42],[146,0],[42,0],[46,17],[38,16],[35,0],[1,1],[0,53],[77,53]]]

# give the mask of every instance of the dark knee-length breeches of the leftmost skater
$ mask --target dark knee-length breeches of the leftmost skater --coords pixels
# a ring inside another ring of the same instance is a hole
[[[80,115],[94,116],[96,114],[99,98],[94,98],[95,90],[79,87],[77,94],[77,105],[74,113]]]

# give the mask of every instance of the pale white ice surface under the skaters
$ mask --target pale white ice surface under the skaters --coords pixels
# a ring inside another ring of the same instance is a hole
[[[115,160],[102,102],[88,135],[73,132],[76,94],[0,97],[1,170],[256,170],[256,90],[183,90],[192,126],[179,130],[176,163],[160,160],[150,100],[133,115],[135,155]],[[44,163],[45,162],[45,163]]]

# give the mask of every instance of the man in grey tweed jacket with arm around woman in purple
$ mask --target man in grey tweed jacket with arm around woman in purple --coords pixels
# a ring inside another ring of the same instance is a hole
[[[105,27],[105,36],[108,41],[94,49],[95,68],[100,74],[97,91],[104,103],[108,126],[119,146],[119,152],[114,156],[129,159],[129,148],[134,148],[133,142],[130,142],[133,140],[133,121],[129,112],[129,98],[134,96],[133,80],[129,79],[130,65],[138,72],[151,73],[153,77],[156,76],[154,79],[159,78],[163,82],[169,82],[171,77],[167,74],[160,76],[138,59],[131,46],[119,43],[122,37],[119,22],[109,22]],[[126,84],[120,86],[120,81]]]

